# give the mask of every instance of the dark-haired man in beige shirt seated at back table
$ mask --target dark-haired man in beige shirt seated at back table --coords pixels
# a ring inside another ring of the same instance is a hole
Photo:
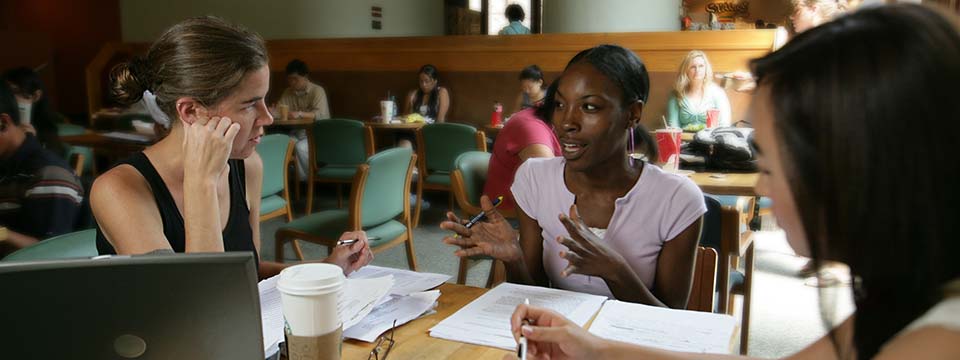
[[[310,71],[307,64],[300,60],[293,60],[287,64],[287,87],[280,95],[277,105],[286,105],[288,116],[293,120],[323,120],[330,118],[330,106],[327,105],[327,92],[323,87],[314,84],[309,78]],[[273,115],[279,116],[278,111]],[[307,169],[310,168],[310,146],[307,142],[306,130],[297,130],[297,176],[300,180],[307,179]]]

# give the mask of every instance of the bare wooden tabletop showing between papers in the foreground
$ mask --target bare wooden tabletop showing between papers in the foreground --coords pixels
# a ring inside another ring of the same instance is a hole
[[[487,289],[446,283],[440,286],[437,313],[402,326],[393,335],[396,342],[388,359],[496,359],[512,351],[430,337],[428,330],[487,292]],[[373,343],[343,342],[343,359],[366,359]]]

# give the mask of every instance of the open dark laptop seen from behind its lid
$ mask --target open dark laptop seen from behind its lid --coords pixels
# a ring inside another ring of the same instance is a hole
[[[0,358],[263,360],[253,254],[0,264]]]

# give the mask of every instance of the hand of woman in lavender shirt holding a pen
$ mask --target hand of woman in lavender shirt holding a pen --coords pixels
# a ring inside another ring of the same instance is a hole
[[[448,221],[442,222],[440,228],[453,231],[457,236],[444,237],[443,242],[459,246],[461,249],[454,254],[460,257],[487,255],[504,262],[520,260],[523,252],[517,241],[517,232],[497,212],[486,195],[480,197],[480,207],[487,213],[486,220],[477,222],[469,229],[464,226],[466,220],[448,212]]]

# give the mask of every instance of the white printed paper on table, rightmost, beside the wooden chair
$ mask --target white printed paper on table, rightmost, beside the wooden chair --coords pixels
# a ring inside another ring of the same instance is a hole
[[[607,301],[590,332],[671,351],[729,354],[736,319],[729,315]]]

